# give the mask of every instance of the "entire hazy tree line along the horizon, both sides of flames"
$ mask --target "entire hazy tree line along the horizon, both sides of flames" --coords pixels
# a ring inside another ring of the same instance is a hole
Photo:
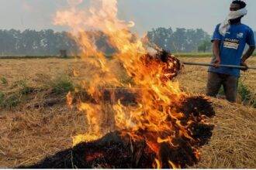
[[[102,32],[87,32],[96,46],[104,53],[113,53],[108,37]],[[256,37],[256,32],[254,32]],[[206,52],[211,50],[210,36],[202,29],[157,28],[147,32],[150,42],[172,53]],[[52,29],[35,31],[26,29],[0,30],[0,56],[56,56],[61,49],[69,55],[79,53],[79,46],[68,32],[54,32]]]

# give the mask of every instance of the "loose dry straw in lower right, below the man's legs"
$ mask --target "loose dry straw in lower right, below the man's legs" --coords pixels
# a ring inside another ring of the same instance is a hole
[[[216,127],[195,168],[256,168],[256,109],[213,100]]]

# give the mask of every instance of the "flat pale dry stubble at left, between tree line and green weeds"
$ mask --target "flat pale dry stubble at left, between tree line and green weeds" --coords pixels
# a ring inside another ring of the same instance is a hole
[[[45,81],[60,74],[72,74],[72,66],[81,66],[76,59],[1,59],[0,77],[9,84],[27,80],[29,85],[38,87]],[[0,90],[6,89],[0,86]]]

